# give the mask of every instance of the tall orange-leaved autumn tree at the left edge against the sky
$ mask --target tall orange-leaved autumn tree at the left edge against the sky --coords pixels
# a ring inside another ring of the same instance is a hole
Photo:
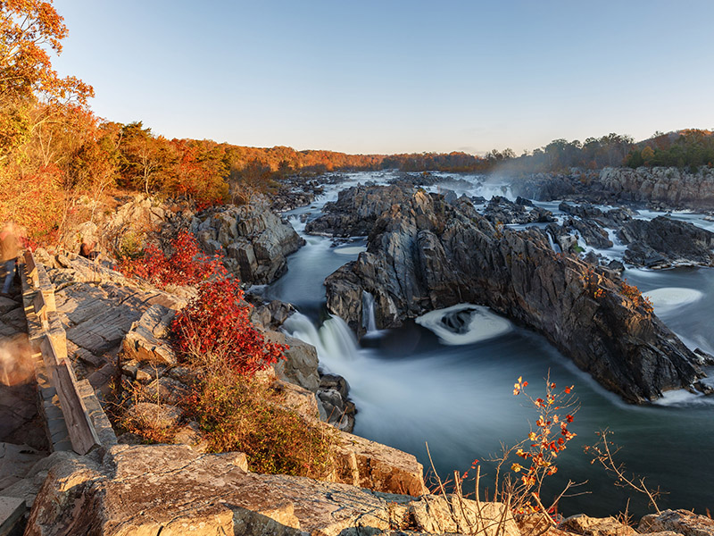
[[[52,68],[66,36],[51,1],[0,1],[0,213],[44,240],[67,213],[66,166],[94,94]]]

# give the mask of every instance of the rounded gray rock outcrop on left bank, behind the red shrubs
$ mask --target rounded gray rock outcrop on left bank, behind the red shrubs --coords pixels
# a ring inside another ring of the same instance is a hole
[[[241,281],[266,284],[286,272],[286,255],[303,239],[264,206],[228,205],[203,220],[194,218],[192,231],[203,250],[221,252],[224,264]]]

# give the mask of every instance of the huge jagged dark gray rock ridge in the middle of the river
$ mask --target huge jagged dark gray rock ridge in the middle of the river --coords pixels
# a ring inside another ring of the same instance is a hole
[[[378,328],[457,303],[484,304],[544,334],[629,402],[689,386],[702,375],[693,353],[608,273],[555,254],[538,230],[494,228],[465,200],[448,205],[411,190],[375,223],[368,251],[325,284],[329,310],[355,331],[363,291],[375,297]]]

